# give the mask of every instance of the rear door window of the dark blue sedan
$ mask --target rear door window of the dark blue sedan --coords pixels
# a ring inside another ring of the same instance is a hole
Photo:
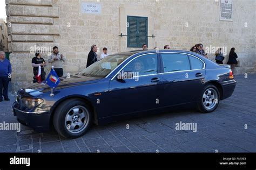
[[[161,54],[164,65],[164,73],[190,70],[190,61],[185,54]]]

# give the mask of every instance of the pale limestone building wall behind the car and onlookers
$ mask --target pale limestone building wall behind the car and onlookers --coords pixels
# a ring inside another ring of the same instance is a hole
[[[5,0],[13,87],[32,82],[36,47],[47,51],[58,46],[68,59],[64,71],[71,74],[85,68],[92,44],[100,52],[103,47],[110,53],[140,49],[127,47],[127,16],[147,17],[147,34],[154,35],[147,38],[151,49],[168,44],[171,49],[189,50],[199,42],[204,47],[227,47],[227,52],[235,47],[239,57],[235,73],[255,73],[256,1],[233,0],[232,21],[220,20],[220,1]],[[96,4],[97,11],[86,11],[84,3]],[[208,55],[214,59],[214,54]]]

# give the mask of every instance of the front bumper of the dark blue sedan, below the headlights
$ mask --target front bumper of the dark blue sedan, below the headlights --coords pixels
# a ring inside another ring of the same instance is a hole
[[[35,129],[37,132],[47,132],[50,130],[49,111],[26,112],[16,107],[16,102],[12,105],[12,112],[17,117],[19,123]]]

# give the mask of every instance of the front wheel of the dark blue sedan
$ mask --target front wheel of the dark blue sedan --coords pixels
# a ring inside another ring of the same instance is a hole
[[[56,108],[53,126],[65,138],[78,138],[89,129],[92,122],[91,115],[92,112],[84,101],[67,100]]]

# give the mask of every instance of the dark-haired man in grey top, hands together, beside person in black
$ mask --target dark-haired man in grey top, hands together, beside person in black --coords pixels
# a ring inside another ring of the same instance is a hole
[[[63,76],[63,64],[62,62],[65,62],[66,58],[63,56],[63,54],[59,53],[58,47],[53,47],[53,53],[50,56],[50,59],[48,60],[49,63],[51,63],[52,66],[54,66],[54,70],[57,73],[58,77]]]

